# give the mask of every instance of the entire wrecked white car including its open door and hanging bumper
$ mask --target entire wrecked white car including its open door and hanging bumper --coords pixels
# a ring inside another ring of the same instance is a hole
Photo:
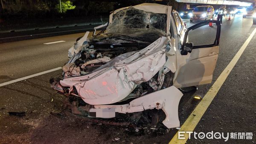
[[[188,43],[190,30],[209,22],[216,23],[214,42]],[[209,20],[186,29],[172,6],[143,3],[117,9],[92,37],[87,32],[77,40],[62,77],[50,83],[67,95],[66,106],[74,114],[132,123],[154,119],[148,111],[162,109],[163,124],[179,127],[183,93],[178,88],[211,83],[220,30],[218,21]]]

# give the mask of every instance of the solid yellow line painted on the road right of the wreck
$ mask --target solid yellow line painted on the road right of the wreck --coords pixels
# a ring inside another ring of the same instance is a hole
[[[209,91],[206,93],[204,98],[200,101],[200,103],[195,107],[193,112],[189,115],[189,117],[186,119],[185,123],[180,127],[181,132],[192,132],[195,127],[197,126],[198,122],[204,115],[204,112],[206,112],[209,105],[212,103],[213,98],[217,95],[219,89],[221,88],[224,81],[227,79],[227,76],[230,74],[230,71],[233,69],[233,67],[236,65],[237,61],[241,57],[242,53],[244,52],[244,49],[249,44],[250,40],[253,38],[253,35],[256,33],[256,28],[253,30],[251,35],[247,38],[247,40],[244,42],[244,44],[241,46],[239,51],[236,53],[234,58],[230,61],[230,63],[227,65],[227,67],[221,72],[221,75],[217,78],[215,83],[212,85],[212,87],[209,89]],[[194,116],[195,115],[195,116]],[[185,139],[178,139],[178,132],[174,135],[172,140],[169,142],[169,144],[185,144],[188,140],[189,135],[187,133],[182,133],[185,137]]]

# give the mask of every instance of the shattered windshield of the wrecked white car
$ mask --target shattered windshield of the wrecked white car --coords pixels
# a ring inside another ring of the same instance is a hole
[[[154,41],[166,35],[166,17],[166,14],[145,12],[131,7],[113,14],[113,21],[105,34]]]

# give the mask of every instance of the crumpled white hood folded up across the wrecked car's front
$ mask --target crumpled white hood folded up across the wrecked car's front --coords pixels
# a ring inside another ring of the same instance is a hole
[[[85,76],[66,78],[60,83],[62,86],[75,86],[78,94],[88,104],[113,104],[121,101],[137,84],[149,81],[163,67],[167,40],[161,37],[124,60],[114,58],[111,60],[113,65],[109,67],[101,67]]]

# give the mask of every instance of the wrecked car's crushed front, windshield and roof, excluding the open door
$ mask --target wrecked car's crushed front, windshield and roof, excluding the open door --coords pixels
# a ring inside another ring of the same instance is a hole
[[[179,127],[178,104],[183,94],[172,86],[173,73],[164,66],[171,47],[168,9],[149,3],[118,9],[105,30],[81,37],[69,50],[62,76],[50,81],[53,89],[67,96],[66,107],[87,117],[126,114],[126,119],[162,109],[163,124]]]

